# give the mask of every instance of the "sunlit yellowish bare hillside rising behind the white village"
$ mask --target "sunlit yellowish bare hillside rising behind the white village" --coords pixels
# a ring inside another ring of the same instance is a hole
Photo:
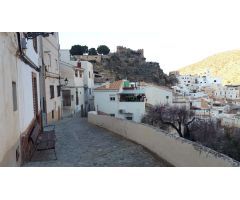
[[[222,78],[223,84],[240,84],[240,50],[215,54],[178,71],[180,74],[200,74],[206,69],[210,69],[212,76]]]

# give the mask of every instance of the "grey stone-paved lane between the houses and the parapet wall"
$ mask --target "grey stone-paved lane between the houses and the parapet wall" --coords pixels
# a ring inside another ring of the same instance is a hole
[[[35,152],[28,167],[163,167],[164,161],[141,145],[135,144],[86,118],[65,118],[56,123],[56,152]]]

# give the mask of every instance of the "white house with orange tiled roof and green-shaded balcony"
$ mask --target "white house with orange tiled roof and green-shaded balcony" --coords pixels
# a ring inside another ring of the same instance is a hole
[[[140,122],[145,114],[145,93],[127,80],[107,83],[94,90],[99,114]]]

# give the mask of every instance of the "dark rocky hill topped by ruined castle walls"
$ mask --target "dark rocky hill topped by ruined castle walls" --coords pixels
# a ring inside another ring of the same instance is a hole
[[[146,62],[143,50],[131,50],[117,47],[115,53],[103,56],[100,62],[94,63],[96,82],[114,81],[127,78],[130,81],[145,81],[157,85],[170,86],[174,76],[167,76],[159,63]]]

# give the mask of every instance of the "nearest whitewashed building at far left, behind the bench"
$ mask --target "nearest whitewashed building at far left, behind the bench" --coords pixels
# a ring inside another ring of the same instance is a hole
[[[0,166],[29,158],[29,134],[41,124],[38,44],[24,33],[0,33]]]

